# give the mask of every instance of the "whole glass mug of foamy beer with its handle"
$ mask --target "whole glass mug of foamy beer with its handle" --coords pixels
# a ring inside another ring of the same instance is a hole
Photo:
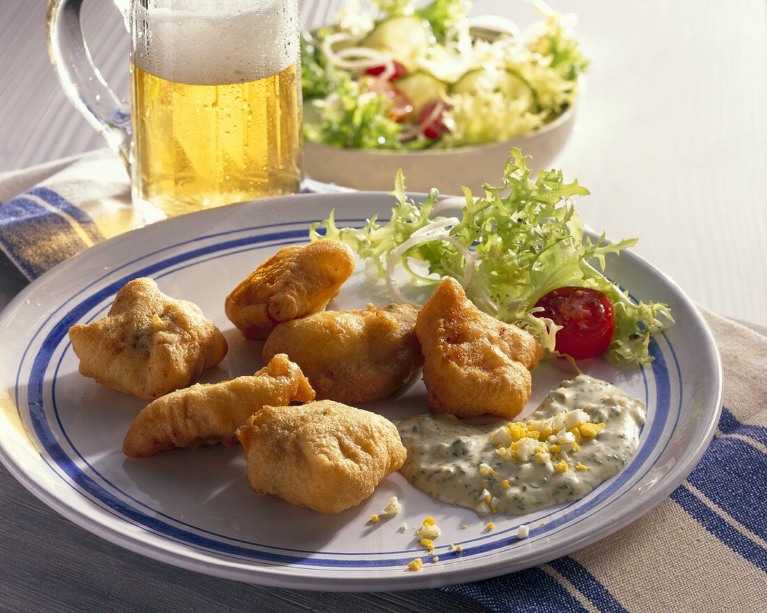
[[[48,46],[67,96],[125,160],[133,203],[174,216],[298,191],[298,0],[117,3],[131,107],[91,61],[82,0],[50,0]]]

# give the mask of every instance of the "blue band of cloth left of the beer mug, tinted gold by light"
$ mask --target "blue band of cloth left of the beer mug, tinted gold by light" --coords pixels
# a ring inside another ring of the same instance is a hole
[[[0,242],[28,278],[87,247],[69,222],[24,197],[0,206]]]

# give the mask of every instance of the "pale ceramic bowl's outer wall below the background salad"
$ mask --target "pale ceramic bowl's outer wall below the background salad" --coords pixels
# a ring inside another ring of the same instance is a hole
[[[581,79],[578,101],[582,95]],[[343,149],[307,142],[304,165],[314,180],[355,190],[389,191],[395,173],[401,168],[408,190],[428,192],[436,187],[440,193],[455,194],[466,186],[479,191],[484,183],[500,185],[503,166],[512,147],[520,147],[522,153],[532,156],[535,169],[550,167],[573,130],[578,101],[550,124],[502,143],[403,152]]]

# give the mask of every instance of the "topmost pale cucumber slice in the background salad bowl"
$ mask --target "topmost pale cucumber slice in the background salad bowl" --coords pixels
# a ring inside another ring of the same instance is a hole
[[[412,70],[426,57],[433,43],[427,21],[415,15],[398,15],[379,21],[361,44],[374,49],[387,48],[395,60]]]

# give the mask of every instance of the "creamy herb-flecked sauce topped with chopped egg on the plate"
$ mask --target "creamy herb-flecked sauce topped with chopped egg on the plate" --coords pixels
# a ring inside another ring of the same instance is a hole
[[[581,499],[618,473],[637,451],[644,419],[641,400],[581,374],[522,421],[399,420],[407,448],[400,473],[446,503],[522,515]]]

